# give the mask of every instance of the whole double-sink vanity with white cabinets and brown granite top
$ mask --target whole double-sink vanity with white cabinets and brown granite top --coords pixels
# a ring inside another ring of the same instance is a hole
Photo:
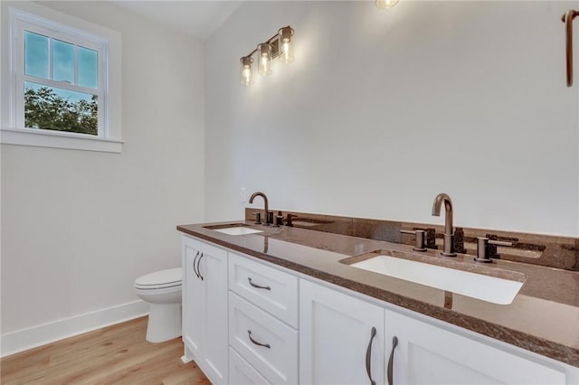
[[[183,361],[214,384],[579,384],[576,271],[485,266],[524,280],[499,305],[351,266],[415,254],[403,244],[251,222],[177,230]]]

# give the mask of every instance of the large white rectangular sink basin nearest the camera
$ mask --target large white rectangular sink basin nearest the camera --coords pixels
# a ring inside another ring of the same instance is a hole
[[[462,296],[481,299],[498,305],[508,305],[517,296],[523,282],[444,268],[405,258],[378,255],[351,264],[355,268],[374,271],[417,284],[432,286]],[[521,276],[524,276],[521,274]],[[524,281],[524,280],[523,280]]]

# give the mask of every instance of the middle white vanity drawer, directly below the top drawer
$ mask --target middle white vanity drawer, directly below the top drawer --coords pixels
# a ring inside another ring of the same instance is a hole
[[[298,332],[232,292],[229,344],[271,383],[298,383]]]

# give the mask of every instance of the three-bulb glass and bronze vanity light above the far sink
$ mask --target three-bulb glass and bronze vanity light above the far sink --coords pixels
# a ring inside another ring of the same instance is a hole
[[[392,0],[391,0],[392,1]],[[280,28],[278,33],[271,36],[267,42],[257,45],[257,48],[247,56],[243,56],[242,65],[242,84],[251,86],[253,84],[252,55],[257,53],[257,69],[261,75],[271,75],[271,63],[274,59],[279,58],[282,63],[294,61],[293,56],[293,29],[288,25]]]

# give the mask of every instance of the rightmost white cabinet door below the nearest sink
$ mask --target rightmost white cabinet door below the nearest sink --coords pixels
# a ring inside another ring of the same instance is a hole
[[[562,367],[501,350],[411,316],[389,310],[385,315],[388,356],[394,336],[397,339],[392,356],[396,385],[567,383]]]

